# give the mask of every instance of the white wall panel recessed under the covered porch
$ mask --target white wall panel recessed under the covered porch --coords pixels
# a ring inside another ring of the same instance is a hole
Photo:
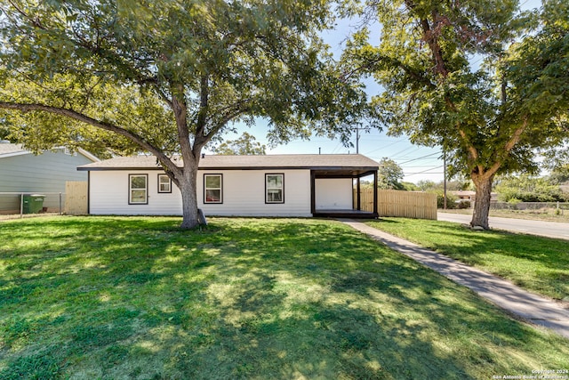
[[[353,208],[351,178],[317,178],[315,197],[317,210],[351,210]]]

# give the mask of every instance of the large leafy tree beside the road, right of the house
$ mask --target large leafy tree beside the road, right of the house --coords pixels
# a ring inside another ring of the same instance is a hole
[[[380,41],[367,28],[355,34],[345,55],[351,72],[383,85],[373,106],[390,133],[441,146],[451,174],[474,182],[473,226],[489,228],[496,174],[534,172],[539,149],[568,139],[568,7],[548,0],[539,18],[519,12],[517,0],[370,0],[361,8],[379,21]]]

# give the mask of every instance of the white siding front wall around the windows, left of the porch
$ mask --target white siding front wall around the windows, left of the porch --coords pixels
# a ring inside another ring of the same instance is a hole
[[[91,214],[180,215],[180,190],[158,193],[161,171],[92,171],[89,206]],[[265,203],[265,174],[284,174],[284,203]],[[129,205],[129,174],[148,174],[148,205]],[[223,203],[204,204],[204,174],[222,174]],[[228,170],[197,174],[198,207],[207,215],[311,216],[309,170]]]

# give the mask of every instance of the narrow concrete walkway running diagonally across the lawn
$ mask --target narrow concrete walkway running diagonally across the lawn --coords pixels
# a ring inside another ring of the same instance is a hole
[[[374,229],[363,222],[351,219],[341,219],[340,221],[441,273],[446,278],[469,287],[502,309],[533,324],[549,327],[561,336],[569,338],[569,310],[564,309],[560,304],[540,295],[529,293],[505,279],[500,279],[485,271],[479,271],[450,257],[437,254],[407,240]]]

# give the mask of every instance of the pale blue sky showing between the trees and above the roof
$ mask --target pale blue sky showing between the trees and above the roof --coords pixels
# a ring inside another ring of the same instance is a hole
[[[541,6],[541,0],[523,0],[520,2],[522,9],[532,9]],[[356,28],[356,21],[339,20],[336,28],[326,32],[323,37],[331,46],[334,54],[340,54],[343,42]],[[365,81],[366,92],[372,96],[381,92],[381,86],[373,82],[373,79]],[[248,128],[240,128],[238,133],[228,133],[227,140],[234,140],[243,132],[251,133],[257,141],[267,144],[267,122],[259,120],[256,125]],[[274,149],[268,149],[267,154],[322,154],[356,153],[356,134],[352,142],[354,147],[344,147],[338,140],[330,140],[322,137],[314,137],[309,141],[291,141],[285,145],[279,145]],[[364,154],[376,161],[381,158],[393,159],[403,168],[405,182],[417,183],[421,180],[434,182],[443,181],[443,160],[438,148],[429,148],[413,145],[408,138],[391,137],[385,131],[372,130],[370,133],[361,132],[359,139],[359,153]]]

